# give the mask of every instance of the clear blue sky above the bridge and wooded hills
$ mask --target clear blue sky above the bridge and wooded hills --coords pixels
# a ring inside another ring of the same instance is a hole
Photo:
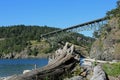
[[[117,0],[0,0],[0,26],[67,28],[102,18]]]

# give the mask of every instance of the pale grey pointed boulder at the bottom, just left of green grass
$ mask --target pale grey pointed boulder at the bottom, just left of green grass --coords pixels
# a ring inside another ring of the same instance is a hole
[[[101,66],[95,66],[93,76],[90,80],[108,80],[106,73],[102,70]]]

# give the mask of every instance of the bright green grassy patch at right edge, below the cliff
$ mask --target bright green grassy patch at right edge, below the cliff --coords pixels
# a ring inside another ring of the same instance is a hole
[[[118,77],[120,75],[120,63],[104,64],[103,69],[110,76]]]

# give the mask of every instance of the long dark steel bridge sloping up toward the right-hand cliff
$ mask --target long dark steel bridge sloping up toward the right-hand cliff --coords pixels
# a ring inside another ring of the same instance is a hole
[[[60,33],[64,34],[64,32],[80,32],[80,31],[85,31],[85,30],[96,29],[96,28],[102,27],[104,24],[106,24],[108,19],[109,19],[109,17],[96,19],[93,21],[89,21],[89,22],[85,22],[85,23],[78,24],[75,26],[71,26],[71,27],[68,27],[65,29],[60,29],[60,30],[56,30],[56,31],[49,32],[46,34],[42,34],[40,37],[46,38],[46,37],[55,36],[55,35],[58,36],[58,34],[60,34]]]

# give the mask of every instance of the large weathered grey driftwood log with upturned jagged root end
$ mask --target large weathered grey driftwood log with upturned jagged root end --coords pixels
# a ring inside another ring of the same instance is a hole
[[[49,57],[48,65],[32,70],[26,74],[12,77],[9,80],[61,80],[63,75],[69,73],[79,62],[79,55],[74,52],[74,45],[68,43]]]

